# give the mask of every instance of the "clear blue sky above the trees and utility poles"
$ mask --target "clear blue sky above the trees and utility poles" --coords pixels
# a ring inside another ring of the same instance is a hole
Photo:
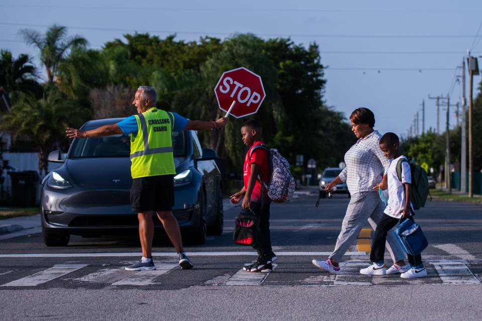
[[[435,128],[435,101],[428,95],[449,93],[451,103],[459,101],[461,86],[454,80],[461,71],[456,67],[471,46],[472,55],[482,55],[482,28],[474,38],[482,23],[482,1],[2,0],[0,6],[0,48],[14,55],[37,55],[19,38],[20,29],[44,32],[53,23],[85,37],[93,48],[135,31],[160,37],[177,33],[185,40],[250,32],[263,38],[290,36],[298,44],[316,42],[328,66],[326,103],[346,116],[358,106],[370,108],[381,133],[407,135],[417,111],[421,131],[424,98],[425,128]],[[479,82],[475,76],[474,96]],[[468,92],[468,82],[466,87]],[[441,132],[444,128],[441,110]]]

